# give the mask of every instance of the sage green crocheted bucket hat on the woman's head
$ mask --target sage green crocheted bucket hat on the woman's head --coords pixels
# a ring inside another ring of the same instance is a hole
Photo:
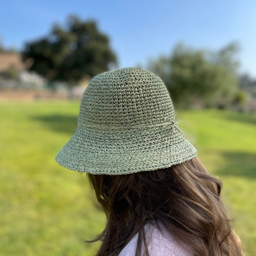
[[[196,153],[177,127],[162,80],[123,68],[90,81],[75,134],[56,160],[79,172],[120,175],[167,168]]]

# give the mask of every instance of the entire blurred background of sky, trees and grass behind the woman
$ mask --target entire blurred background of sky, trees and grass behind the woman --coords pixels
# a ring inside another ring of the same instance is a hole
[[[0,255],[90,256],[105,216],[54,160],[90,79],[142,67],[166,84],[247,256],[256,252],[256,2],[4,1],[0,9]]]

